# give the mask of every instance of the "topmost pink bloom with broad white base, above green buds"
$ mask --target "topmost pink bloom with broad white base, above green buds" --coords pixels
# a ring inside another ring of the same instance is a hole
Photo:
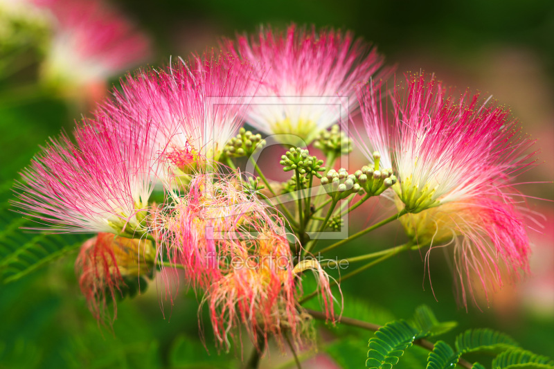
[[[310,143],[321,129],[348,116],[357,104],[354,85],[381,78],[384,58],[349,32],[312,30],[291,24],[285,33],[262,28],[250,39],[224,40],[224,49],[259,68],[262,81],[247,116],[265,134],[288,134],[285,141]],[[297,138],[295,138],[297,137]],[[281,139],[281,138],[279,138]]]

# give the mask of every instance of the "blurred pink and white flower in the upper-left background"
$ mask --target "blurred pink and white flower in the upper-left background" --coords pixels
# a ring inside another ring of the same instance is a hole
[[[68,95],[98,89],[108,78],[150,56],[148,38],[104,1],[34,2],[54,19],[43,76]]]

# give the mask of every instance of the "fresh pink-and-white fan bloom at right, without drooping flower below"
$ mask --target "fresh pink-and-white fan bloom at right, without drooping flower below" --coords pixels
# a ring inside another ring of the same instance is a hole
[[[479,93],[456,98],[434,77],[408,75],[395,87],[389,123],[380,86],[359,90],[366,134],[355,137],[369,161],[377,151],[384,167],[396,167],[393,186],[409,213],[476,195],[502,196],[499,186],[533,165],[534,141],[521,135],[510,112]]]

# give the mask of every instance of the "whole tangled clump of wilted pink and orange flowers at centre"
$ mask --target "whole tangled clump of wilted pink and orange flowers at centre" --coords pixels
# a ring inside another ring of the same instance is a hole
[[[182,266],[186,283],[205,291],[217,343],[229,348],[240,326],[256,345],[289,332],[306,340],[298,274],[312,270],[332,316],[329,277],[315,260],[293,267],[283,220],[242,187],[236,174],[197,173],[174,204],[152,215],[158,258]],[[175,273],[164,274],[166,291]],[[261,347],[258,347],[261,349]]]

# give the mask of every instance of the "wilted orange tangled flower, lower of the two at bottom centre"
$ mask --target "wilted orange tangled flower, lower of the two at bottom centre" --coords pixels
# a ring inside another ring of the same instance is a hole
[[[283,343],[288,332],[300,342],[303,319],[295,299],[292,255],[284,235],[267,229],[252,240],[237,240],[226,273],[206,291],[204,303],[219,343],[229,348],[229,335],[240,325],[262,350],[272,336]]]

